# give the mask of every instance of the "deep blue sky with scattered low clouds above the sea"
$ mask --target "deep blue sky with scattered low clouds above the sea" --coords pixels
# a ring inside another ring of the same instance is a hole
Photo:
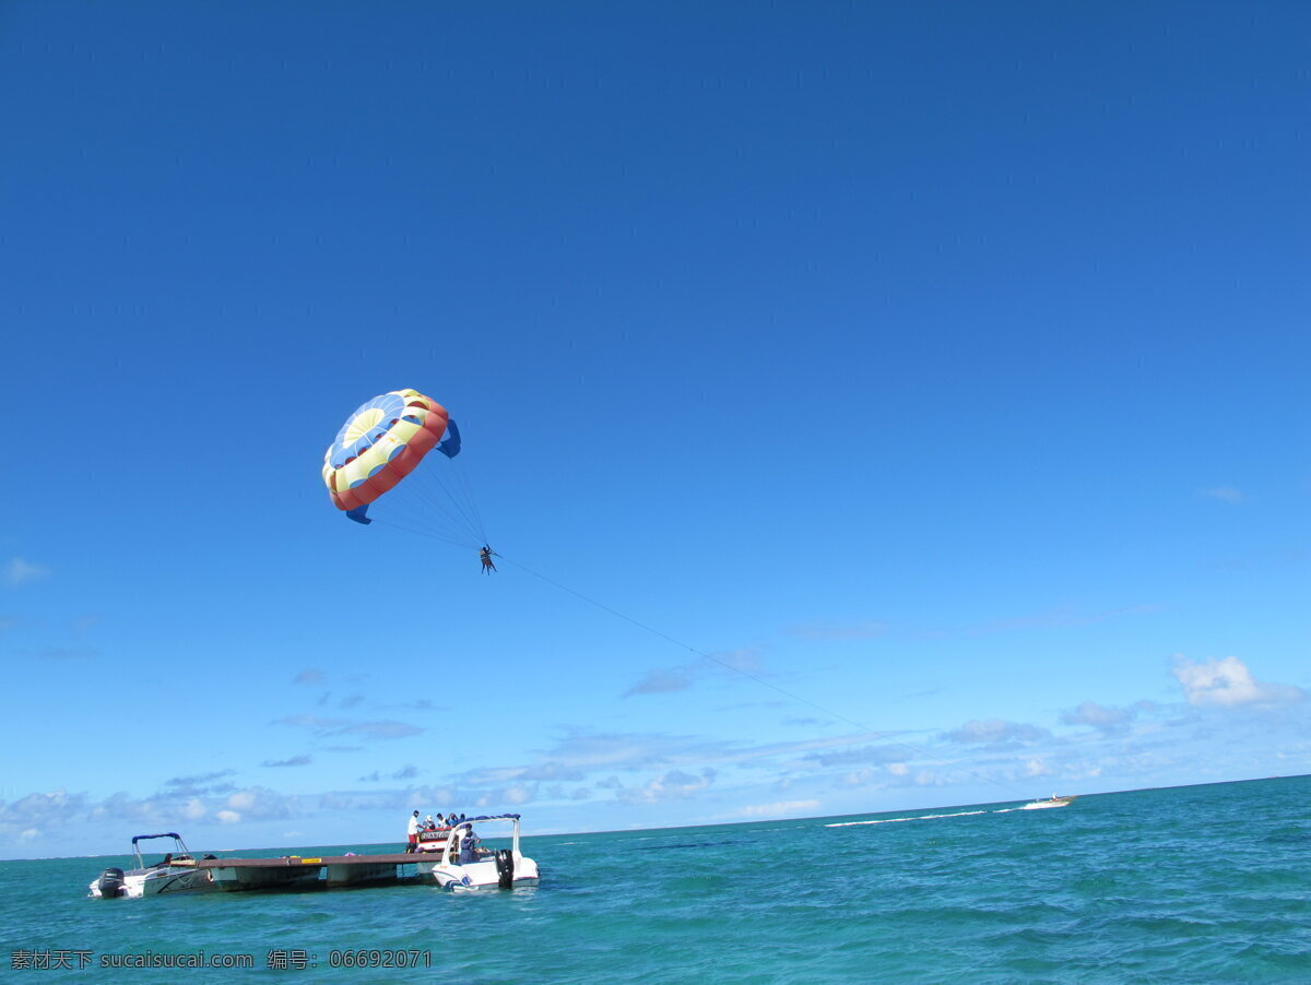
[[[7,4],[0,853],[1311,770],[1308,21]]]

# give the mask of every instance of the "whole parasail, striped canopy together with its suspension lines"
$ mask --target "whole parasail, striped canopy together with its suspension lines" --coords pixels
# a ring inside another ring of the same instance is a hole
[[[435,461],[446,468],[420,468],[434,449],[443,456]],[[346,418],[324,453],[324,485],[333,506],[357,523],[378,519],[368,516],[368,510],[387,496],[387,506],[396,506],[392,512],[404,513],[401,519],[412,525],[431,528],[438,520],[444,534],[438,540],[479,546],[486,536],[472,490],[454,470],[459,453],[460,430],[446,407],[418,390],[391,390],[359,405]],[[416,470],[427,481],[408,478]],[[417,495],[397,495],[401,491]]]

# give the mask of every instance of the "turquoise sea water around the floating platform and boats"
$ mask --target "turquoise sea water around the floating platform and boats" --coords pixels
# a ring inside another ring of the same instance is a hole
[[[84,899],[87,884],[123,859],[3,862],[3,976],[1311,981],[1311,777],[1002,807],[526,838],[543,883],[513,893],[401,885],[98,901]],[[13,969],[17,951],[60,948],[93,967]],[[433,967],[329,968],[346,948],[412,948]],[[102,955],[199,950],[252,954],[254,968],[98,967]],[[270,968],[270,951],[316,967]]]

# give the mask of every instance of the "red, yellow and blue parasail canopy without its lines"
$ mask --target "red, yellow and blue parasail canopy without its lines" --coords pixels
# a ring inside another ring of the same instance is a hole
[[[392,390],[362,403],[324,455],[324,485],[346,516],[368,523],[368,504],[437,448],[454,458],[460,434],[446,407],[418,390]]]

